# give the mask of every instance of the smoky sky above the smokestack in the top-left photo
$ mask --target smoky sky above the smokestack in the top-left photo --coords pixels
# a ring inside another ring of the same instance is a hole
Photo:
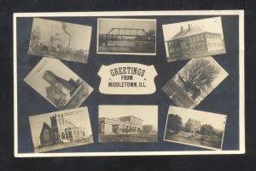
[[[64,42],[64,47],[68,47],[69,36],[63,31],[61,21],[55,20],[44,20],[44,19],[33,19],[32,29],[40,27],[41,31],[41,43],[46,45],[49,44],[50,35],[55,35],[55,33],[61,34],[61,39]],[[83,26],[78,24],[67,23],[67,31],[71,34],[70,48],[79,50],[89,50],[90,48],[90,35],[91,26]]]

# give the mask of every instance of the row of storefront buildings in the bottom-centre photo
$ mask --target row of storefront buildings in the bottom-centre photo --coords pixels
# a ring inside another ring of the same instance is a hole
[[[98,124],[99,134],[141,133],[143,131],[143,119],[134,116],[100,117]]]

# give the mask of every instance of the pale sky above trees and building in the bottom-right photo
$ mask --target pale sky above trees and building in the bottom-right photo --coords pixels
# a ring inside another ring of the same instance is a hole
[[[226,115],[207,111],[196,111],[176,106],[170,106],[168,114],[174,114],[182,117],[183,123],[187,123],[189,118],[191,118],[201,121],[202,125],[211,124],[213,128],[218,128],[220,130],[224,130],[224,122],[226,121]]]

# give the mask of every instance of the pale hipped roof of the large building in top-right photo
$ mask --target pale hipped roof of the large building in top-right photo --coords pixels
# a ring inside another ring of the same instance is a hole
[[[182,37],[189,37],[189,36],[201,34],[201,33],[204,33],[204,32],[209,32],[209,31],[204,31],[204,30],[201,28],[201,26],[190,26],[190,30],[189,30],[189,28],[183,29],[183,31],[177,32],[176,35],[174,35],[173,37],[171,37],[171,38],[170,38],[169,40],[167,40],[167,41],[175,40],[175,39],[182,38]],[[219,34],[219,33],[215,33],[215,32],[212,32],[212,33],[213,33],[213,34]]]

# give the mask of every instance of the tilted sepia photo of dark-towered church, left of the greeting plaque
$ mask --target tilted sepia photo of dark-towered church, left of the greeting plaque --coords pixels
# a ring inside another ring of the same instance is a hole
[[[60,60],[43,58],[24,81],[59,110],[79,107],[93,88]]]

